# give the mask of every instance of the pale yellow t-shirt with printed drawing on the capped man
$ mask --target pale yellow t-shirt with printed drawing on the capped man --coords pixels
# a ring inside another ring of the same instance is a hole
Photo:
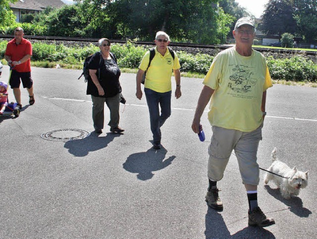
[[[203,84],[214,90],[208,113],[211,125],[251,132],[262,124],[262,95],[272,82],[260,52],[242,56],[235,47],[221,51]]]

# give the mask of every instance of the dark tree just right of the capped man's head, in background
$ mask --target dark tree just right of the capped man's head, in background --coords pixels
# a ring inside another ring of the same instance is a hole
[[[281,36],[283,33],[295,33],[296,21],[293,17],[293,0],[269,0],[265,5],[259,30],[266,34]]]

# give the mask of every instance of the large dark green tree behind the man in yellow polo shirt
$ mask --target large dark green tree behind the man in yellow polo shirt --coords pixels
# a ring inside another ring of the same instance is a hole
[[[133,37],[153,40],[157,31],[166,31],[173,40],[194,43],[219,42],[220,28],[228,21],[219,18],[217,0],[116,0],[113,2],[117,19]],[[113,9],[113,8],[112,8]],[[110,14],[110,13],[109,13]],[[230,21],[229,17],[229,21]],[[220,24],[221,23],[221,24]],[[225,34],[227,34],[225,32]]]

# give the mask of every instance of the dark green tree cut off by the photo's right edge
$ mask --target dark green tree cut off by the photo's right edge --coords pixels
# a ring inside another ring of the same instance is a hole
[[[317,41],[317,0],[294,0],[298,32],[307,43]]]

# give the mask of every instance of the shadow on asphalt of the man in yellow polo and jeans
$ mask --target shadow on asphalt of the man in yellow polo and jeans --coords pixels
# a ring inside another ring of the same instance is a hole
[[[136,173],[137,178],[143,181],[151,179],[154,171],[161,170],[172,163],[176,156],[164,160],[167,150],[161,147],[155,150],[152,147],[146,152],[133,153],[123,163],[123,168],[131,173]]]

